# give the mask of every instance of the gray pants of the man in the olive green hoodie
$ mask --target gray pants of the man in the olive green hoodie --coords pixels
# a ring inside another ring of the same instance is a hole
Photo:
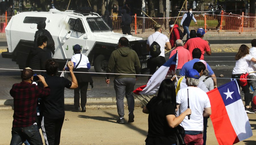
[[[134,111],[134,98],[131,92],[134,90],[135,82],[135,78],[118,78],[114,80],[117,113],[120,118],[124,117],[124,96],[127,99],[129,112],[133,113]]]

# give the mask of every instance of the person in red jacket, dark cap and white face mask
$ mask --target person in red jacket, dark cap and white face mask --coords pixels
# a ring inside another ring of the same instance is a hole
[[[177,29],[177,28],[179,28],[179,26],[177,24],[174,24],[174,21],[171,20],[169,22],[169,27],[170,27],[170,32],[172,30],[172,27],[174,27],[172,30],[172,33],[170,34],[170,43],[171,43],[172,47],[174,47],[176,40],[180,39],[179,30]]]

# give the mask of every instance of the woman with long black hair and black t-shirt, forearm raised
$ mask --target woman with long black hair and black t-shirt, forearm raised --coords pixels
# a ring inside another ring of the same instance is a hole
[[[185,116],[191,114],[191,109],[187,109],[176,117],[176,108],[174,82],[165,79],[159,87],[158,95],[154,96],[142,110],[143,113],[149,114],[146,145],[176,144],[174,127],[178,126]]]

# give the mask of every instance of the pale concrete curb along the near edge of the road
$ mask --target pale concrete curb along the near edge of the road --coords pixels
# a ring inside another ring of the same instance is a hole
[[[64,98],[64,104],[73,105],[74,98]],[[141,107],[140,101],[135,99],[135,107]],[[124,98],[124,106],[127,107],[127,100]],[[102,97],[102,98],[87,98],[86,108],[105,108],[112,107],[116,108],[115,97]],[[13,109],[13,99],[1,99],[0,100],[0,110],[1,109]]]

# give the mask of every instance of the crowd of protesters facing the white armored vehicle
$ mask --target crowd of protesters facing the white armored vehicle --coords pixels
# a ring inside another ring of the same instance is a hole
[[[125,12],[125,9],[122,10]],[[109,14],[107,14],[109,15]],[[128,14],[127,14],[128,15]],[[125,16],[124,16],[125,17]],[[165,79],[160,84],[158,94],[146,106],[143,113],[148,115],[148,135],[145,140],[151,144],[176,144],[177,128],[185,130],[185,144],[206,144],[207,122],[211,115],[211,105],[206,92],[217,88],[216,76],[210,66],[204,61],[204,53],[211,55],[210,44],[203,40],[205,30],[197,31],[188,27],[193,19],[192,12],[188,12],[181,21],[184,32],[180,33],[177,24],[170,22],[170,39],[162,34],[161,24],[155,24],[155,33],[148,37],[146,48],[150,56],[147,62],[150,75],[156,72],[165,62],[165,50],[171,50],[171,58],[178,52],[177,81]],[[71,81],[57,76],[58,63],[52,59],[54,55],[54,41],[46,23],[38,23],[35,33],[34,48],[31,49],[27,67],[21,72],[22,82],[14,84],[10,94],[14,99],[14,115],[11,144],[42,144],[39,129],[42,129],[45,144],[59,144],[61,128],[64,121],[64,88],[75,89],[74,110],[86,112],[88,84],[93,87],[93,80],[88,72],[90,62],[88,57],[81,54],[81,46],[74,45],[74,55],[67,67]],[[181,40],[187,34],[183,45]],[[191,38],[190,38],[191,36]],[[251,42],[252,48],[241,45],[235,56],[236,66],[232,78],[236,78],[245,94],[245,111],[255,113],[256,105],[251,103],[247,81],[239,80],[249,73],[248,83],[253,87],[256,95],[256,39]],[[34,71],[36,70],[36,71]],[[40,72],[45,70],[46,73]],[[75,72],[74,72],[75,71]],[[141,64],[137,53],[129,47],[129,40],[121,37],[118,48],[114,50],[108,61],[106,83],[110,84],[110,74],[115,72],[113,80],[116,93],[117,113],[116,123],[125,124],[124,97],[128,103],[128,123],[133,123],[135,115],[134,90],[137,75],[141,71]],[[37,74],[36,74],[37,73]],[[246,76],[245,76],[246,77]],[[148,77],[150,79],[150,76]],[[81,101],[80,101],[81,98]],[[189,101],[188,99],[189,98]],[[188,107],[190,104],[191,107]]]

